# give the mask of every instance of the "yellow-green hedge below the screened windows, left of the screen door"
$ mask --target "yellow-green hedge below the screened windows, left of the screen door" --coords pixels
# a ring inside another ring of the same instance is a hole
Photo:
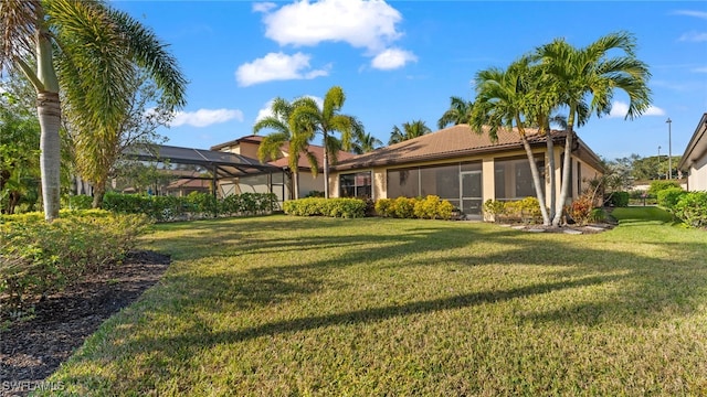
[[[383,217],[450,219],[454,205],[436,195],[424,198],[398,197],[376,201],[376,213]]]

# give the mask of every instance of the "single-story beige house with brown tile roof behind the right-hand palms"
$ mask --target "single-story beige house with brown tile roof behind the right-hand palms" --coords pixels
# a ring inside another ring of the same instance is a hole
[[[549,197],[547,142],[535,130],[527,131]],[[557,193],[559,197],[564,132],[552,131]],[[599,157],[576,139],[571,161],[571,192],[578,197],[589,180],[600,176]],[[449,200],[467,215],[481,217],[487,200],[535,196],[528,158],[518,132],[499,131],[492,142],[467,125],[457,125],[415,139],[339,161],[330,175],[331,196],[394,198],[434,194]]]

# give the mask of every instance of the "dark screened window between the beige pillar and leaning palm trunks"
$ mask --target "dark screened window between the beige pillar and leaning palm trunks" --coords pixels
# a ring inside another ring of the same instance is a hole
[[[540,171],[540,185],[545,186],[545,162],[536,158]],[[496,200],[521,200],[535,197],[532,172],[527,159],[508,159],[494,161]]]

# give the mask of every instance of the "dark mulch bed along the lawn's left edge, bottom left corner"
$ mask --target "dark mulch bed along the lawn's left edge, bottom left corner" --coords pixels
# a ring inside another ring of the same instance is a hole
[[[166,255],[130,253],[122,265],[36,302],[29,320],[0,331],[0,395],[23,395],[41,384],[101,323],[155,285],[169,262]]]

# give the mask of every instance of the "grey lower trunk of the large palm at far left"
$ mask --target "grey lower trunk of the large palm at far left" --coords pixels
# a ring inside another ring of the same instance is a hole
[[[36,94],[36,114],[40,121],[40,172],[42,175],[42,202],[44,218],[52,222],[59,217],[60,207],[60,165],[61,147],[59,129],[61,127],[61,107],[57,93],[39,92]]]

